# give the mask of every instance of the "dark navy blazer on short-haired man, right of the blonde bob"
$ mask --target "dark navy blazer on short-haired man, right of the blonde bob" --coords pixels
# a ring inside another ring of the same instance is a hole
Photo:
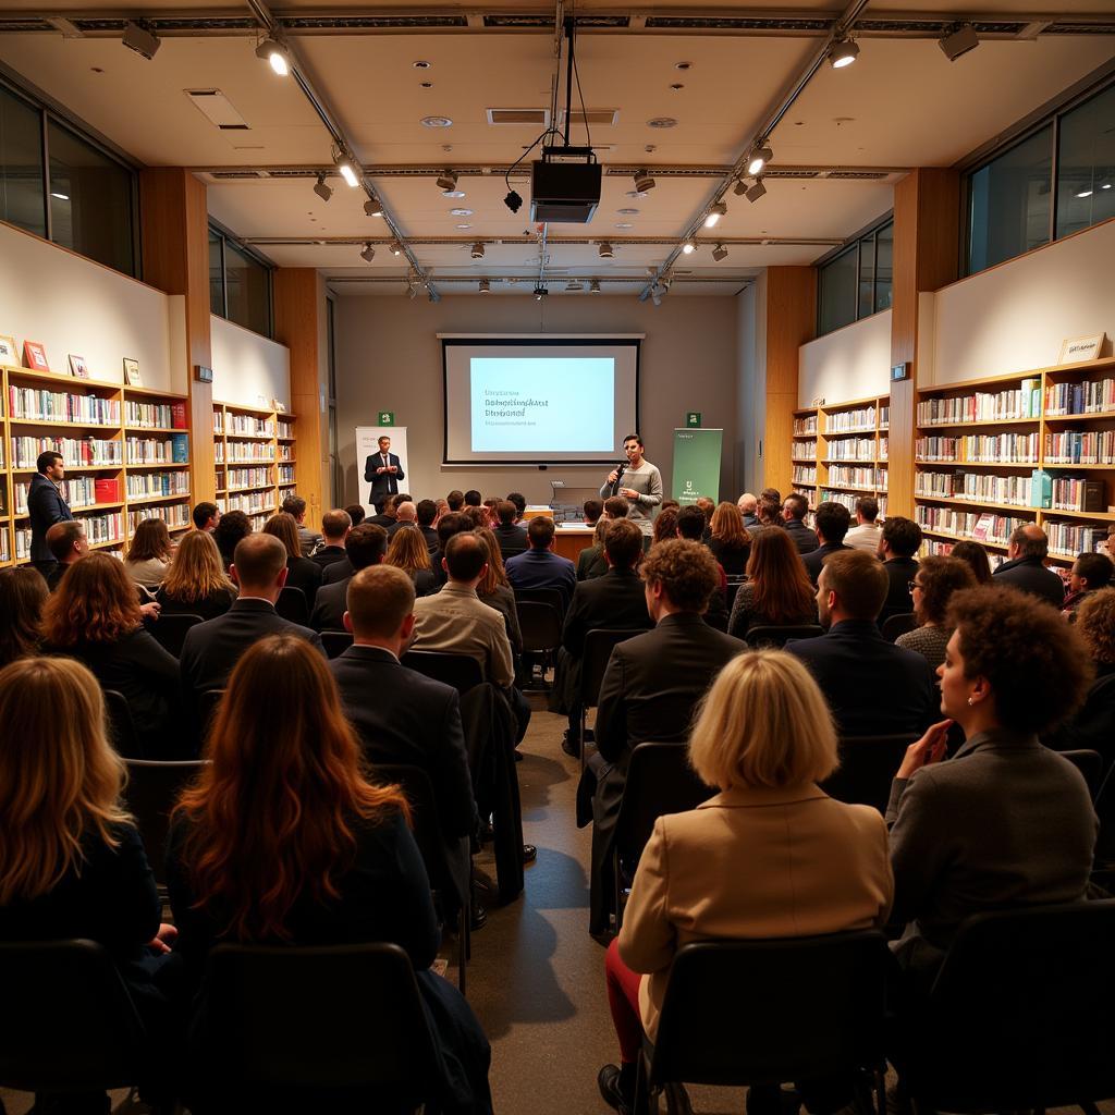
[[[909,735],[940,719],[937,679],[924,657],[888,642],[871,620],[844,620],[786,650],[809,668],[842,736]]]

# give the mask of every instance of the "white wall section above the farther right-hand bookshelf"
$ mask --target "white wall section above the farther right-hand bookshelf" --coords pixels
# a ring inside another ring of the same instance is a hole
[[[862,318],[798,350],[797,405],[864,399],[890,390],[891,311]]]

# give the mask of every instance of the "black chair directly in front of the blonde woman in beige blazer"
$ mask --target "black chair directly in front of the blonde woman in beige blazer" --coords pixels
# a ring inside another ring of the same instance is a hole
[[[688,744],[646,743],[631,753],[612,846],[617,932],[623,924],[624,884],[634,878],[655,822],[668,813],[696,809],[715,793],[689,766]]]

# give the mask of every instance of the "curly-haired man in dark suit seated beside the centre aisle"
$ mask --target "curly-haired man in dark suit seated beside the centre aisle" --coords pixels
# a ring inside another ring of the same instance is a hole
[[[598,754],[589,765],[597,778],[589,931],[597,934],[609,932],[611,853],[631,752],[648,739],[685,739],[694,706],[725,663],[746,650],[701,619],[719,583],[707,546],[658,543],[643,559],[642,580],[657,627],[612,651],[597,708]]]

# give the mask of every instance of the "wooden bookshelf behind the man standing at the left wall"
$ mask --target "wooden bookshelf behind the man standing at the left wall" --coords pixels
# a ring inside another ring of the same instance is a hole
[[[89,544],[120,550],[142,518],[190,525],[186,396],[6,366],[0,565],[30,560],[27,493],[40,453],[66,464],[62,494]]]

